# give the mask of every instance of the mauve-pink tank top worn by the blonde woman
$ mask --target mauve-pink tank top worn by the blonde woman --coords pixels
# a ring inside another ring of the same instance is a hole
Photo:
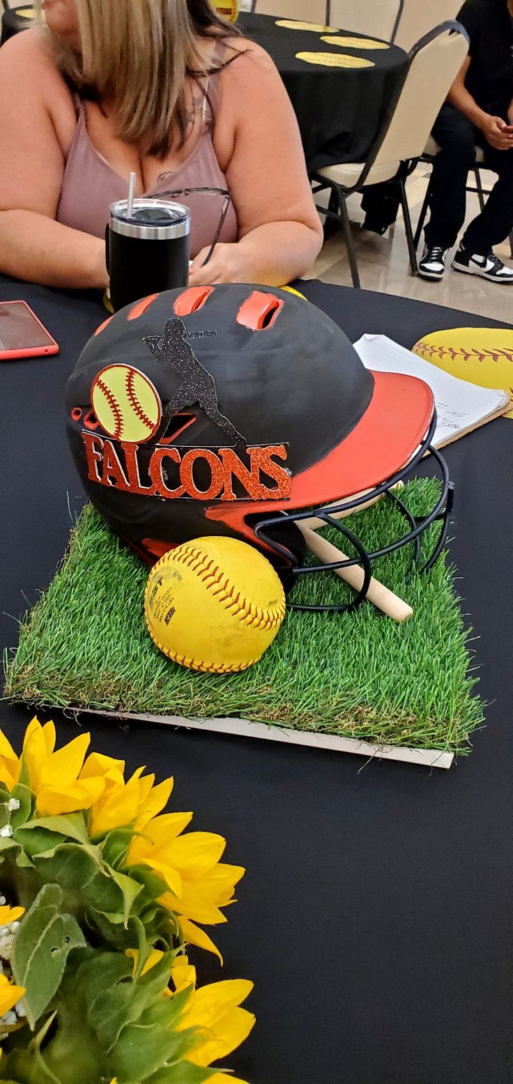
[[[216,63],[219,63],[219,52],[218,49]],[[156,184],[144,193],[145,196],[188,188],[227,188],[211,141],[219,96],[220,74],[215,73],[208,80],[203,131],[194,151],[177,169],[161,173]],[[116,199],[126,199],[128,185],[92,145],[87,130],[86,109],[79,99],[77,108],[77,127],[64,169],[56,218],[63,225],[103,237],[110,204]],[[177,195],[176,198],[191,211],[191,257],[194,257],[214,240],[223,197],[211,193],[191,193],[188,196]],[[238,240],[236,215],[232,204],[228,208],[219,240]]]

